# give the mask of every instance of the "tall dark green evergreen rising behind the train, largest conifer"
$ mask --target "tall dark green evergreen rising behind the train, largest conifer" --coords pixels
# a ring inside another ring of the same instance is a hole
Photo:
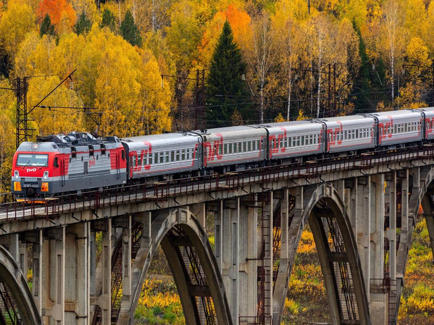
[[[234,41],[232,28],[228,21],[224,23],[219,41],[211,59],[210,73],[207,80],[208,126],[221,127],[230,125],[234,112],[241,113],[242,119],[248,120],[248,91],[242,78],[245,66],[241,51]],[[244,114],[243,114],[244,113]],[[238,118],[239,119],[239,118]]]

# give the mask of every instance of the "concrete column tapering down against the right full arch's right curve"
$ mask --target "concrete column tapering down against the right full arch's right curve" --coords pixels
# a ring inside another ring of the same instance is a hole
[[[366,295],[369,299],[369,282],[371,278],[371,176],[357,180],[357,249],[360,255],[360,264],[364,275]],[[363,218],[362,218],[363,216]]]

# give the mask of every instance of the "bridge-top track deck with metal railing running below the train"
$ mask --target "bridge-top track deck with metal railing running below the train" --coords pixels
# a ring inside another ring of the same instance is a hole
[[[272,165],[228,174],[181,178],[155,182],[153,185],[128,185],[101,191],[88,191],[81,194],[59,196],[52,200],[46,200],[42,204],[31,200],[5,203],[0,205],[0,222],[50,218],[72,211],[100,209],[132,202],[168,200],[168,198],[206,191],[235,190],[253,183],[259,183],[265,188],[266,183],[270,181],[315,178],[335,171],[368,169],[374,165],[433,157],[434,145],[424,145],[422,148],[414,146],[286,165]]]

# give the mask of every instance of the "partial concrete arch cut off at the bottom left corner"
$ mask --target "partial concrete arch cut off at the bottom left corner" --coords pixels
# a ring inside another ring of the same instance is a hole
[[[42,324],[26,277],[12,258],[12,255],[0,245],[0,282],[6,284],[12,293],[21,322],[29,325]]]

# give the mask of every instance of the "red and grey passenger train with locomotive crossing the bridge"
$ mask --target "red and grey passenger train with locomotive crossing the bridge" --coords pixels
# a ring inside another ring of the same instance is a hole
[[[86,132],[21,143],[12,161],[17,201],[225,174],[434,140],[434,107],[221,127],[148,136],[95,138]]]

